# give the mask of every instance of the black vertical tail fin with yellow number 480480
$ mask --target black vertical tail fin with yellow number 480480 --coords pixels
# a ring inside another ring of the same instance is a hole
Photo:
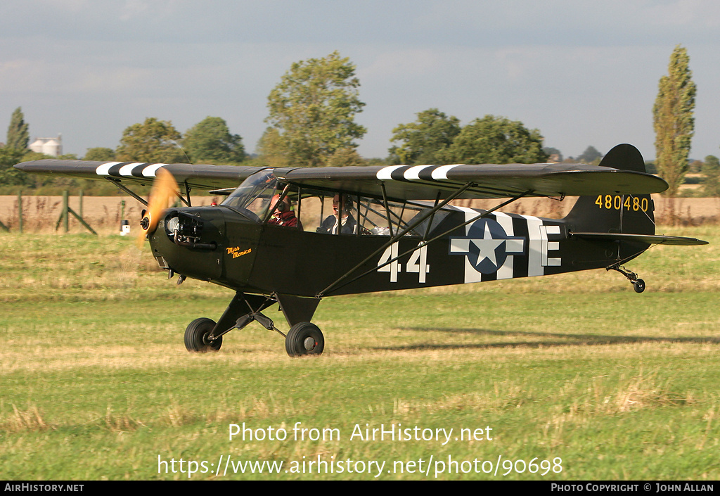
[[[614,147],[600,161],[613,169],[646,172],[642,154],[632,145]],[[565,221],[571,231],[654,234],[654,205],[650,195],[581,196]]]

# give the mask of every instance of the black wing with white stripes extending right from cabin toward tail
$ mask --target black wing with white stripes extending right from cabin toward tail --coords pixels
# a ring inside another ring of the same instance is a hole
[[[446,198],[472,185],[457,198],[528,196],[644,195],[667,189],[667,182],[646,172],[587,164],[482,164],[390,167],[318,167],[277,169],[286,182],[321,190],[344,190],[395,200]]]

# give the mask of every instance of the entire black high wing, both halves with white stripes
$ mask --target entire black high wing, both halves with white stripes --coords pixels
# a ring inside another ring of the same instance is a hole
[[[25,172],[81,179],[110,179],[122,184],[149,185],[157,169],[167,169],[179,185],[212,190],[237,187],[264,167],[210,164],[147,164],[44,159],[15,166]],[[275,169],[284,182],[304,188],[346,191],[394,200],[447,198],[472,185],[457,198],[528,196],[642,195],[667,189],[667,182],[645,172],[587,164],[453,164],[390,167],[300,167]]]

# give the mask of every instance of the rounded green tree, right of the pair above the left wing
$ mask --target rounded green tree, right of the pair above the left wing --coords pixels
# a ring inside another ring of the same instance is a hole
[[[228,164],[246,158],[242,138],[230,134],[228,123],[219,117],[204,118],[186,130],[182,144],[194,162]]]

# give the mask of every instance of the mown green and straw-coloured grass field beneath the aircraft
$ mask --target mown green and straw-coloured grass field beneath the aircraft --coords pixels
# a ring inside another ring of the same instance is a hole
[[[631,262],[640,295],[598,270],[328,298],[308,359],[259,324],[187,353],[232,293],[132,239],[0,234],[0,479],[719,479],[720,228],[659,231],[711,244]]]

